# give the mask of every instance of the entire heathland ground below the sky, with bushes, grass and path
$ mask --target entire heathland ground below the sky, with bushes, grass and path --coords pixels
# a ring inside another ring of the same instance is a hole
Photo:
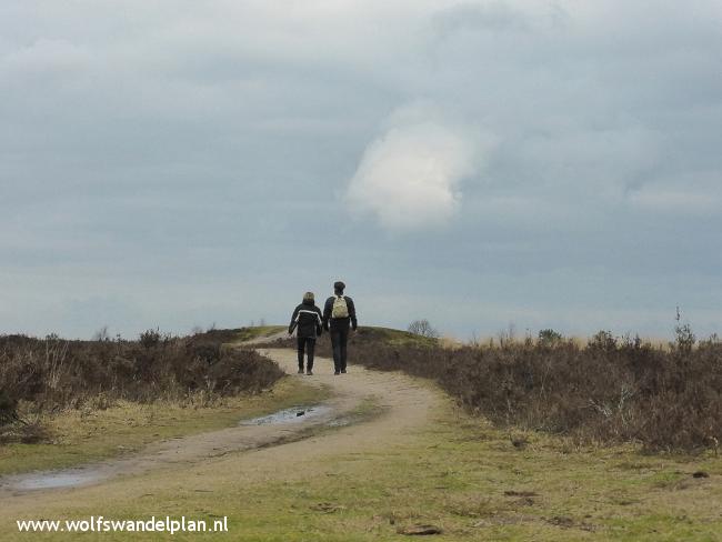
[[[2,338],[1,539],[101,515],[223,519],[200,535],[221,540],[722,538],[714,338],[448,345],[362,328],[348,374],[320,358],[303,377],[282,337]]]

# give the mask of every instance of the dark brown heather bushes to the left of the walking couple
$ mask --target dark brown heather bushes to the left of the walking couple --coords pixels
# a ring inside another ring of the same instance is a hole
[[[90,399],[183,399],[258,391],[282,371],[251,350],[223,348],[224,335],[188,338],[157,330],[139,341],[66,341],[50,335],[0,337],[0,425],[17,421],[19,401],[42,412],[79,406]]]

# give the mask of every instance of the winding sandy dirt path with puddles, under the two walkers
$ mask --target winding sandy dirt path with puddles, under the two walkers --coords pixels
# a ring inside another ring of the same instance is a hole
[[[273,349],[261,350],[261,353],[273,359],[288,373],[295,373],[295,352]],[[284,475],[284,469],[279,465],[294,464],[298,458],[319,458],[344,450],[358,452],[368,446],[383,448],[405,432],[422,426],[443,401],[431,387],[400,373],[381,373],[353,365],[349,368],[349,374],[335,377],[331,368],[330,360],[319,358],[313,377],[293,377],[319,387],[328,385],[334,393],[334,398],[324,403],[330,406],[328,411],[300,423],[239,425],[159,442],[133,455],[50,473],[60,476],[61,482],[71,482],[57,484],[66,485],[63,489],[48,489],[42,484],[32,489],[28,480],[33,475],[37,479],[37,473],[6,476],[0,479],[0,503],[8,513],[11,509],[27,511],[29,505],[43,500],[51,502],[64,492],[73,492],[74,498],[79,492],[102,494],[106,485],[133,480],[134,486],[143,486],[150,481],[150,473],[158,483],[162,484],[162,480],[177,483],[182,479],[180,474],[191,468],[213,472],[220,468],[217,463],[228,461],[233,462],[233,469],[240,469],[247,478],[280,478]],[[371,398],[384,409],[380,416],[320,435],[309,431],[348,415],[359,403]],[[312,436],[298,440],[309,434]],[[247,453],[234,453],[244,451]],[[139,476],[142,474],[146,476]]]

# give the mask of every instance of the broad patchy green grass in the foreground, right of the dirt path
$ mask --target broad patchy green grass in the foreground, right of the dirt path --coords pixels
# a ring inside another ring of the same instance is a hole
[[[99,506],[78,495],[33,514],[168,513],[209,523],[227,515],[229,532],[205,538],[253,541],[397,541],[405,539],[398,530],[413,524],[441,528],[433,540],[461,541],[714,541],[722,532],[720,459],[643,455],[629,446],[580,449],[543,433],[510,435],[451,408],[390,446],[360,443],[354,453],[299,456],[291,471],[280,464],[265,469],[249,479],[242,458],[229,458],[174,474],[166,484],[149,482],[141,498],[112,492]],[[202,491],[194,489],[199,483]],[[9,526],[7,532],[12,538]],[[153,533],[132,538],[154,540]]]

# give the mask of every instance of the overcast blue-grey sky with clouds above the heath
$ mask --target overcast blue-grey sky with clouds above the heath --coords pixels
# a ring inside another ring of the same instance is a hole
[[[722,324],[716,0],[6,0],[0,333]]]

